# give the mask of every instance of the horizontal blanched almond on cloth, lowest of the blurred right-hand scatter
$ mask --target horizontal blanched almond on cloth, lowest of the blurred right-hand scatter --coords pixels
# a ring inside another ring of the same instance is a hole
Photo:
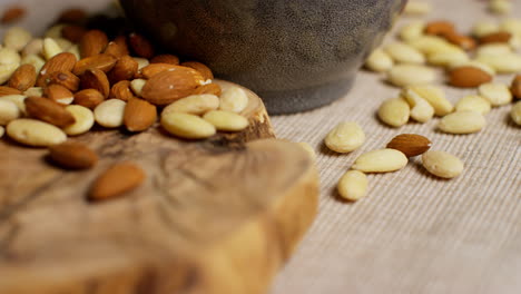
[[[444,133],[463,135],[478,133],[485,124],[483,115],[464,110],[444,116],[440,120],[438,128]]]

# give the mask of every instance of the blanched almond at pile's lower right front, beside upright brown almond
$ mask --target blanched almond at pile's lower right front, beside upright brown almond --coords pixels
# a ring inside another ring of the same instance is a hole
[[[186,139],[205,139],[217,133],[214,125],[203,118],[181,112],[161,116],[161,126],[171,135]]]

